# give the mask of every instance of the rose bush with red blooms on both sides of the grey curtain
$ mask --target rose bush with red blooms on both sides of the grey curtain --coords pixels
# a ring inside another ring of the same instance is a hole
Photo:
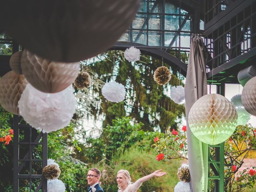
[[[164,160],[186,158],[186,134],[180,131],[175,136],[175,130],[160,138],[156,144],[153,144],[154,150],[164,154]],[[178,139],[177,139],[178,138]],[[184,144],[181,149],[181,144]],[[250,125],[239,125],[232,136],[225,142],[224,150],[224,182],[225,192],[242,192],[249,191],[248,188],[255,188],[256,176],[250,175],[249,170],[256,170],[255,167],[246,168],[241,172],[238,169],[242,167],[244,158],[248,152],[256,150],[256,129]],[[214,148],[211,153],[214,156]],[[234,170],[232,170],[232,166]],[[238,179],[237,179],[238,178]],[[210,184],[210,191],[213,191]]]

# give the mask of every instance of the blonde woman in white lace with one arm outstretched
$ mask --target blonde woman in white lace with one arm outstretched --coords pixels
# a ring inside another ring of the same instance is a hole
[[[161,177],[166,174],[166,172],[161,171],[162,169],[156,170],[152,174],[144,176],[138,179],[135,183],[132,183],[129,172],[127,170],[119,170],[116,175],[116,182],[119,188],[118,192],[136,192],[144,181],[147,181],[154,176]]]

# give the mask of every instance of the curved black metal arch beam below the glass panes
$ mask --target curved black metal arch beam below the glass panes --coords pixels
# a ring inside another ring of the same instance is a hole
[[[176,57],[172,56],[171,54],[162,51],[158,48],[151,48],[149,46],[138,44],[138,43],[132,43],[132,42],[116,42],[112,48],[109,50],[126,50],[126,48],[129,48],[131,46],[134,46],[138,49],[140,49],[140,52],[146,55],[150,55],[157,59],[162,59],[166,64],[169,64],[173,70],[180,70],[180,73],[183,76],[186,76],[187,73],[187,64],[183,63],[182,61],[178,60]]]

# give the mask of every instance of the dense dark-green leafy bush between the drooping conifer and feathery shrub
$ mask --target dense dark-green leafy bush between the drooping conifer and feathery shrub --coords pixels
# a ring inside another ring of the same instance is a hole
[[[142,125],[133,123],[130,117],[112,120],[112,126],[106,126],[100,138],[87,138],[87,146],[80,146],[82,152],[74,157],[84,162],[98,162],[103,158],[111,160],[113,155],[122,154],[134,146],[144,151],[150,150],[154,137],[162,134],[145,132],[141,130]]]

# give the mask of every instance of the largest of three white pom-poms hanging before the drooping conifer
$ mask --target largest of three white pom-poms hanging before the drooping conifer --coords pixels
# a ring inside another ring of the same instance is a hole
[[[111,102],[120,102],[125,98],[125,88],[117,82],[107,82],[102,87],[102,95]]]

